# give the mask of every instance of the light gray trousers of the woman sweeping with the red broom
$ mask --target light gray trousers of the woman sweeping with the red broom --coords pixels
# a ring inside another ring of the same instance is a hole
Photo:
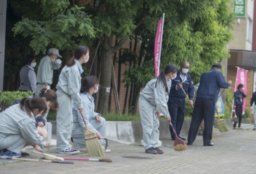
[[[139,98],[140,120],[143,130],[143,145],[145,150],[157,148],[159,140],[159,120],[156,118],[157,107],[150,104],[142,95]]]

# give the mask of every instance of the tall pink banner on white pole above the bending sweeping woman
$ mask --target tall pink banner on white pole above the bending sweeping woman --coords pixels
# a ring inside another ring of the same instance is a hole
[[[164,18],[165,13],[163,14],[163,18],[161,18],[157,25],[156,38],[155,38],[155,76],[160,75],[160,57],[161,57],[161,46],[162,46],[162,38],[163,38],[163,28],[164,28]]]

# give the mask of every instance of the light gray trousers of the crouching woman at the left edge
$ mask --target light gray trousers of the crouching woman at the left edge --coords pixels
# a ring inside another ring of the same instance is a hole
[[[11,152],[20,153],[26,142],[27,140],[21,134],[6,135],[0,133],[0,150],[7,149]]]

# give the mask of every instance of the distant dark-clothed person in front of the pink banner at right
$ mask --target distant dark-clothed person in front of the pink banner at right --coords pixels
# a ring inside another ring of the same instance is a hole
[[[244,93],[244,84],[240,83],[237,86],[237,91],[234,92],[234,108],[236,109],[236,116],[238,117],[238,127],[236,127],[236,123],[234,123],[233,129],[242,129],[242,105],[244,105],[245,97],[246,94]]]

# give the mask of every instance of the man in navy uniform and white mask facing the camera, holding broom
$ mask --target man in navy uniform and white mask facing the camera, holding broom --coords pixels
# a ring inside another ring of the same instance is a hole
[[[168,110],[171,116],[171,124],[176,131],[179,138],[186,140],[180,136],[181,128],[184,122],[185,117],[185,93],[188,93],[188,97],[190,98],[190,105],[193,105],[193,97],[194,97],[194,85],[192,78],[189,74],[187,74],[188,69],[190,68],[190,64],[186,61],[183,61],[180,66],[180,70],[177,72],[177,77],[174,80],[171,80],[171,89],[169,93],[168,100]],[[175,134],[171,126],[171,140],[175,140]]]

